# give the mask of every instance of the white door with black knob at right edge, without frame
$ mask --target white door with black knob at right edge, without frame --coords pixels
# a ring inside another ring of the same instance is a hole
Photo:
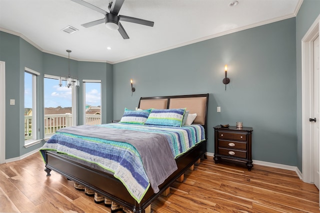
[[[319,74],[319,36],[313,41],[313,105],[314,105],[314,117],[318,119],[318,121],[314,123],[314,164],[313,164],[313,180],[314,185],[319,189],[319,181],[320,181],[320,173],[319,173],[319,141],[320,141],[320,74]]]

